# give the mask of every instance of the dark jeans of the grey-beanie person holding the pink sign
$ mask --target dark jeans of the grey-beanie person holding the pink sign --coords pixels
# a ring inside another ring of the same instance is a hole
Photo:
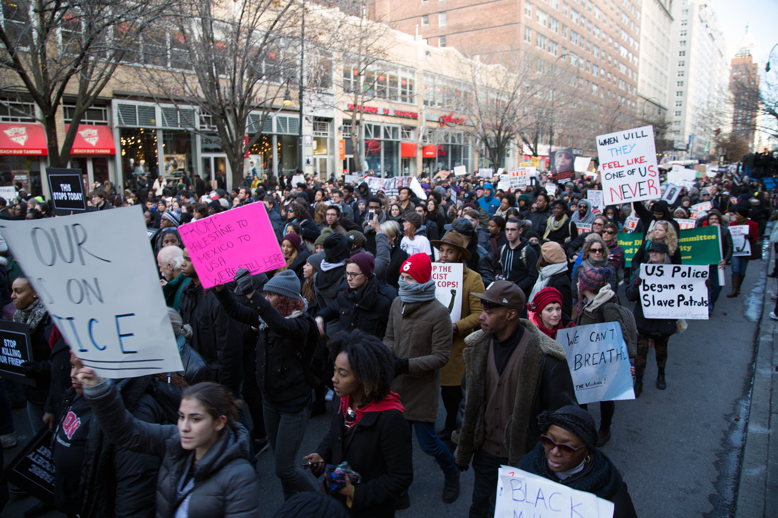
[[[290,414],[282,412],[267,399],[262,399],[262,414],[265,416],[265,430],[275,457],[275,476],[281,479],[284,500],[296,493],[316,491],[303,468],[300,468],[300,444],[308,425],[310,410],[307,405],[302,411]]]

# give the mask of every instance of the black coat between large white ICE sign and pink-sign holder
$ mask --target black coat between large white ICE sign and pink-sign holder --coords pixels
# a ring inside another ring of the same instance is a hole
[[[179,312],[192,327],[191,348],[209,363],[213,381],[237,394],[243,381],[240,325],[227,315],[214,290],[203,290],[194,281],[181,292]]]

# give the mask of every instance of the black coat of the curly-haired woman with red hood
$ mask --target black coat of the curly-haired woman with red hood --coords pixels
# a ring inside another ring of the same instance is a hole
[[[394,516],[394,499],[413,481],[412,450],[408,422],[394,409],[366,412],[349,430],[343,425],[343,413],[333,412],[329,432],[316,449],[325,462],[348,461],[362,475],[349,509],[355,518]],[[334,496],[345,506],[345,496]]]

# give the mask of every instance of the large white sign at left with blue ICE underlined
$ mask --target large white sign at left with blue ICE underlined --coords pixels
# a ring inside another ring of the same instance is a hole
[[[3,223],[13,256],[86,367],[102,377],[183,370],[137,207]]]

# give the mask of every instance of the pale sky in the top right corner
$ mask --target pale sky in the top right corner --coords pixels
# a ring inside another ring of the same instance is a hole
[[[751,33],[757,45],[755,59],[762,65],[759,68],[763,73],[767,55],[778,43],[778,0],[708,0],[708,5],[716,12],[719,26],[727,39],[727,62],[737,52],[735,47],[745,34],[746,24],[751,24]],[[770,68],[778,68],[778,47],[773,51]]]

